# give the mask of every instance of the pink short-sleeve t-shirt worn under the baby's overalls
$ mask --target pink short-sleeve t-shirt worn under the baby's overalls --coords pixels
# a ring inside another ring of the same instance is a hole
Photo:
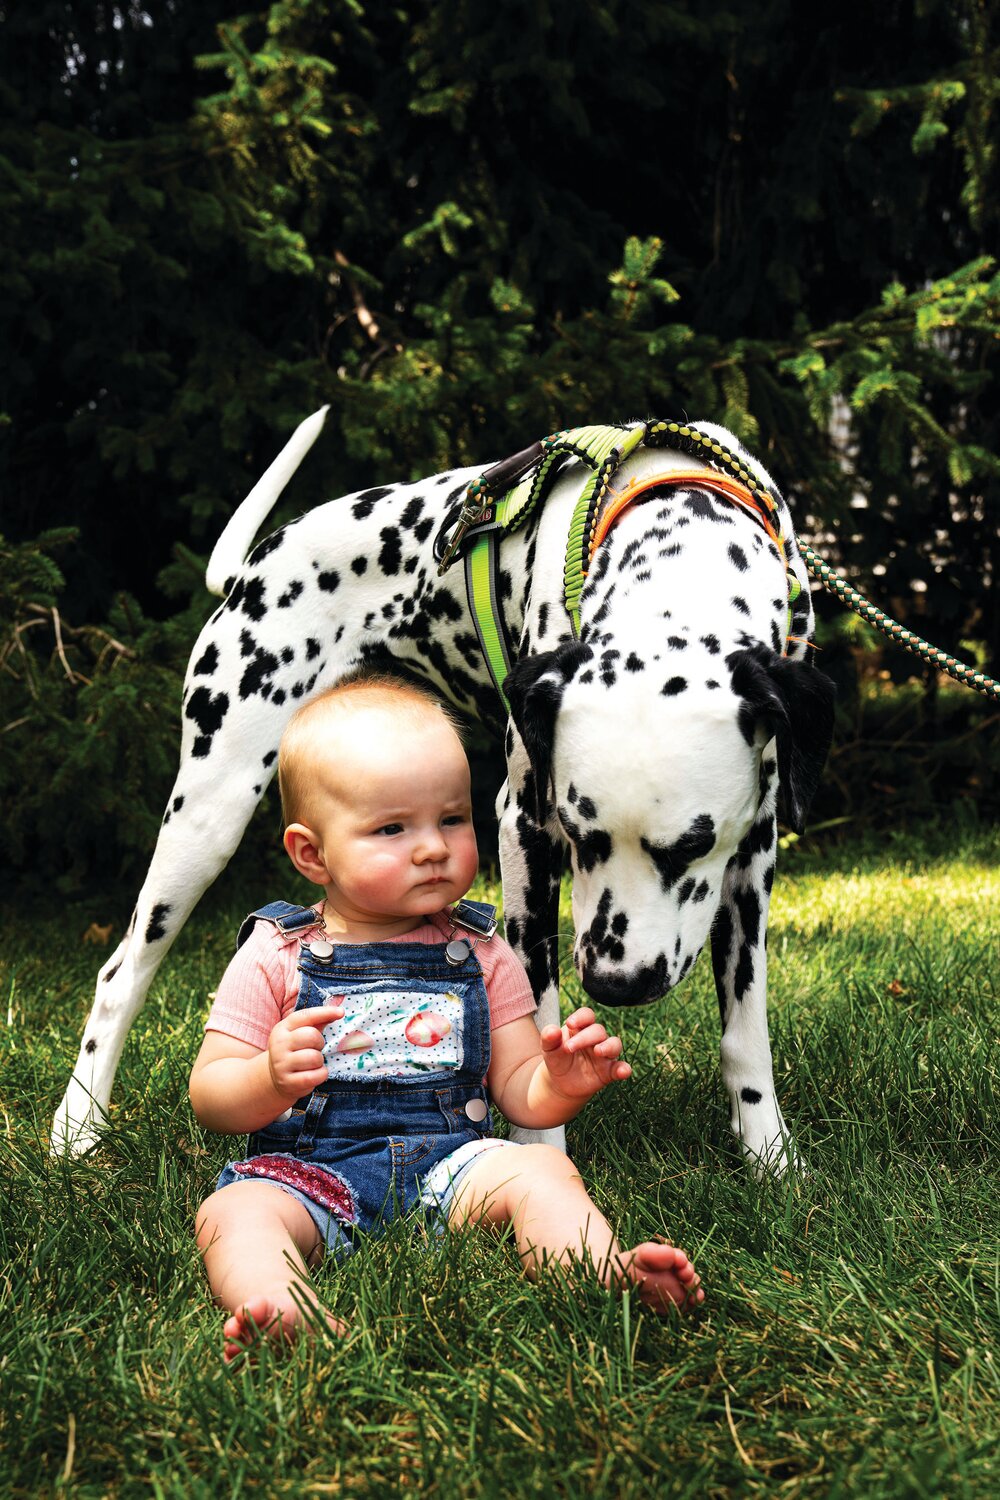
[[[387,940],[435,944],[450,934],[447,912],[435,912],[412,932]],[[324,928],[318,910],[316,926],[294,934],[282,933],[267,921],[256,922],[222,975],[205,1030],[223,1032],[264,1052],[273,1028],[295,1010],[298,948],[319,936],[324,936]],[[475,957],[483,969],[493,1030],[535,1011],[525,968],[502,938],[478,944]]]

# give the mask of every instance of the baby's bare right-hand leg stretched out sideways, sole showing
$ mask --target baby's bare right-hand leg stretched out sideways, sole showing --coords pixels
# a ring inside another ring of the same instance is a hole
[[[552,1146],[484,1150],[462,1178],[448,1222],[510,1224],[532,1281],[546,1262],[582,1260],[607,1287],[633,1282],[657,1312],[705,1299],[702,1278],[675,1245],[648,1240],[624,1251],[577,1168]]]

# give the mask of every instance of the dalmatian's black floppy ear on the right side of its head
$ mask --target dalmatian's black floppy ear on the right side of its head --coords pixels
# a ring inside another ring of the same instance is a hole
[[[778,741],[781,816],[801,834],[834,738],[834,684],[810,663],[789,662],[765,645],[733,651],[726,664],[744,700],[739,728],[747,742],[762,724]]]

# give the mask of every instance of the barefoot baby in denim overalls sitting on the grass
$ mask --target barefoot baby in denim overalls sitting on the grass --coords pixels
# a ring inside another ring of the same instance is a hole
[[[339,1332],[309,1268],[411,1210],[436,1230],[511,1226],[531,1278],[582,1262],[658,1312],[700,1302],[682,1250],[621,1250],[561,1150],[492,1134],[489,1100],[543,1130],[631,1068],[591,1010],[540,1034],[513,951],[481,910],[478,936],[450,916],[478,856],[444,708],[348,680],[289,722],[279,784],[285,849],[324,898],[247,918],[190,1074],[201,1124],[250,1137],[198,1214],[226,1360],[262,1330]]]

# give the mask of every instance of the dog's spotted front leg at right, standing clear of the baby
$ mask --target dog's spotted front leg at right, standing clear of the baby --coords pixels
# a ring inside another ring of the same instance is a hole
[[[798,1166],[774,1088],[768,1035],[768,906],[777,846],[777,765],[765,760],[768,786],[754,824],[726,867],[712,926],[712,968],[723,1022],[723,1082],[730,1124],[754,1174],[783,1176]]]

